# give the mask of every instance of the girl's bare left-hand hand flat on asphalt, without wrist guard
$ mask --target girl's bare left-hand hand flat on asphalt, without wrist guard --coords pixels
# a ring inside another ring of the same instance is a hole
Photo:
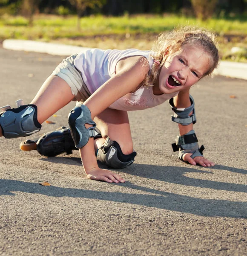
[[[102,181],[106,181],[109,183],[125,182],[125,180],[121,176],[115,174],[114,172],[111,172],[106,169],[100,169],[98,167],[93,168],[92,170],[87,172],[86,175],[90,180],[102,180]]]

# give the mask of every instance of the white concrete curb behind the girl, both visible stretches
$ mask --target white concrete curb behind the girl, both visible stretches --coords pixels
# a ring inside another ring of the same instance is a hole
[[[90,49],[89,47],[14,39],[6,39],[3,41],[3,48],[15,51],[42,52],[60,56],[69,56],[82,50]],[[214,74],[247,80],[247,64],[220,61],[219,67],[214,71]]]

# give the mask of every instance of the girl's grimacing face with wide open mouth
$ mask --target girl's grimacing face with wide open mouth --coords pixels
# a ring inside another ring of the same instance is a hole
[[[169,94],[189,88],[203,77],[209,65],[210,58],[203,49],[184,45],[167,58],[153,91]]]

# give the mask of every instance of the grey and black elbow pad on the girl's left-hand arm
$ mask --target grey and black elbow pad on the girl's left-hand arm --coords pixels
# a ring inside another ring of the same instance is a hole
[[[71,135],[77,148],[84,147],[89,138],[95,136],[96,123],[92,120],[91,112],[85,105],[76,106],[70,111],[68,116]],[[86,128],[85,124],[92,125]]]

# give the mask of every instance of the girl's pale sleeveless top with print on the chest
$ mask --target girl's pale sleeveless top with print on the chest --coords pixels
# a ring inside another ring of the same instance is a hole
[[[154,59],[150,51],[140,51],[138,49],[127,50],[101,50],[87,49],[80,52],[75,58],[74,65],[81,72],[82,79],[89,92],[93,94],[101,85],[115,75],[115,68],[122,58],[130,56],[144,56],[149,61],[150,69]],[[141,86],[134,93],[127,93],[109,108],[133,111],[152,108],[162,104],[166,100],[176,96],[178,93],[154,95],[152,87]]]

